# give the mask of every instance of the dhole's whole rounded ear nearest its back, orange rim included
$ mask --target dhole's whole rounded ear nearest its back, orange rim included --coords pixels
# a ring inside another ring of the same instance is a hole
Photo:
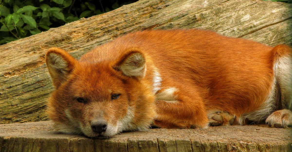
[[[130,49],[119,58],[114,69],[123,72],[126,76],[141,80],[146,73],[145,56],[139,49]]]

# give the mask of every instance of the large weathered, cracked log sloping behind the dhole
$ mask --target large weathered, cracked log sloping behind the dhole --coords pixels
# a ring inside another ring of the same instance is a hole
[[[140,0],[0,46],[0,123],[40,121],[53,86],[45,52],[74,57],[145,29],[201,28],[271,46],[292,42],[292,4],[260,0]]]

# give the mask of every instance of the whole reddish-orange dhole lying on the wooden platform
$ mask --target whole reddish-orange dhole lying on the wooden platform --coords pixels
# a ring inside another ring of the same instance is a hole
[[[53,47],[54,128],[88,137],[126,130],[292,124],[292,50],[211,31],[130,33],[79,60]],[[290,109],[290,110],[288,110]]]

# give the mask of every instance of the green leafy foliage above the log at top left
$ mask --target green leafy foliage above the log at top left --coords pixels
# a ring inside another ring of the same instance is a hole
[[[0,0],[0,45],[137,0]]]

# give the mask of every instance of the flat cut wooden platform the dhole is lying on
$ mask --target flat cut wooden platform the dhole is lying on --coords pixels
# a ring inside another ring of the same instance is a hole
[[[292,151],[292,130],[283,128],[149,129],[99,140],[56,133],[52,124],[1,124],[0,151]]]

